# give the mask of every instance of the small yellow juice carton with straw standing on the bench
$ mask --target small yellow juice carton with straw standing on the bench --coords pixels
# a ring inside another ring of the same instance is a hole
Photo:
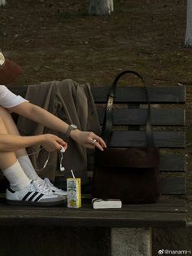
[[[68,207],[80,208],[81,207],[81,179],[68,178],[67,189],[68,189]]]

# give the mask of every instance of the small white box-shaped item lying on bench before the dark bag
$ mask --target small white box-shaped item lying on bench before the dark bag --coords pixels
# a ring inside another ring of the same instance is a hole
[[[121,208],[122,202],[120,199],[99,199],[94,198],[92,200],[92,205],[94,209],[107,209],[107,208]]]

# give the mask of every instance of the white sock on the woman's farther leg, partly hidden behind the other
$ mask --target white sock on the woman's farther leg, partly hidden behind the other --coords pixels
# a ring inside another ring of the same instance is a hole
[[[32,162],[27,155],[18,157],[18,161],[20,162],[20,166],[23,168],[24,173],[28,176],[29,179],[35,180],[40,178],[37,175],[36,170],[33,168]]]

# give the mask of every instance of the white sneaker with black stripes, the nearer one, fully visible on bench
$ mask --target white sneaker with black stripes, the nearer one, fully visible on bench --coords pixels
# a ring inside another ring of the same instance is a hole
[[[27,187],[20,191],[7,188],[7,204],[9,205],[60,205],[66,201],[63,196],[54,195],[50,189],[41,186],[41,183],[33,180]]]

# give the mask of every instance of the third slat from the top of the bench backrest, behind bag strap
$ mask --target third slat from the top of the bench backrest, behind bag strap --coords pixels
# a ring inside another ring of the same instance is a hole
[[[156,146],[159,148],[185,148],[185,131],[154,131]],[[145,131],[114,130],[111,147],[145,147]]]

